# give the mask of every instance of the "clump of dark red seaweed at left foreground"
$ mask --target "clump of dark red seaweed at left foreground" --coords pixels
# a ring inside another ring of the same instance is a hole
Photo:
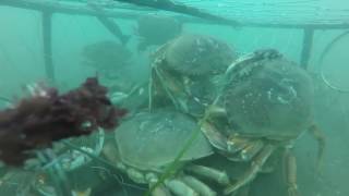
[[[0,111],[0,159],[21,166],[32,149],[86,135],[97,127],[113,130],[127,111],[112,106],[107,93],[97,78],[91,77],[67,94],[47,88]]]

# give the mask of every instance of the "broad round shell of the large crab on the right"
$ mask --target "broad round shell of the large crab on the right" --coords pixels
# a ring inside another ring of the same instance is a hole
[[[229,72],[224,105],[230,124],[244,136],[298,137],[313,121],[310,75],[280,56],[251,59]]]

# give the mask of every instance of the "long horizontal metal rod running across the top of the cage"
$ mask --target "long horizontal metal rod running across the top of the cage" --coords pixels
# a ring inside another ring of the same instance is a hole
[[[36,10],[36,11],[51,11],[52,13],[61,13],[69,15],[105,15],[107,17],[116,17],[116,19],[125,19],[125,20],[134,20],[137,19],[142,12],[137,10],[135,13],[121,13],[117,10],[105,9],[103,13],[97,12],[96,10],[84,5],[84,4],[64,4],[61,2],[52,2],[48,0],[0,0],[0,5],[8,5],[13,8],[21,8],[27,10]],[[149,10],[145,10],[146,13]],[[207,21],[203,19],[188,17],[188,16],[174,16],[182,23],[203,23],[203,24],[214,24],[214,25],[226,25],[226,24],[217,24],[213,21]],[[349,28],[348,23],[341,24],[279,24],[279,23],[243,23],[240,24],[245,27],[264,27],[264,28],[313,28],[313,29],[346,29]]]

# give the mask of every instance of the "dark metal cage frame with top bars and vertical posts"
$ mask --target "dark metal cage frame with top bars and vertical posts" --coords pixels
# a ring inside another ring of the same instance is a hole
[[[139,2],[140,0],[115,0],[115,1],[137,4],[136,2]],[[145,2],[145,1],[153,1],[153,0],[142,0],[142,2]],[[168,1],[168,2],[171,2],[171,1]],[[55,65],[51,58],[52,57],[52,42],[51,42],[52,24],[51,23],[52,23],[52,15],[55,13],[68,14],[68,15],[77,15],[77,14],[89,15],[89,16],[97,17],[98,21],[113,36],[118,38],[120,38],[121,36],[120,29],[118,29],[118,25],[110,19],[134,20],[140,15],[137,13],[118,12],[118,11],[111,10],[116,8],[110,8],[110,5],[108,4],[98,4],[97,2],[94,3],[95,7],[92,7],[88,2],[80,3],[77,5],[77,4],[68,4],[63,2],[52,2],[50,0],[1,0],[0,7],[1,5],[41,12],[45,72],[48,81],[52,83],[55,83]],[[156,11],[156,7],[154,7],[154,4],[151,4],[151,5],[145,4],[145,7],[147,8],[136,9],[135,7],[122,4],[121,7],[117,7],[117,9],[127,9],[127,10],[136,10],[136,11]],[[209,14],[209,13],[205,13],[195,8],[183,7],[183,5],[181,5],[181,8],[182,10],[176,7],[171,9],[164,9],[163,7],[158,7],[158,9],[160,10],[195,16],[195,17],[186,17],[185,15],[176,16],[176,19],[178,19],[182,23],[203,23],[208,25],[214,24],[214,25],[228,25],[228,26],[238,25],[239,27],[301,29],[303,30],[303,40],[302,40],[300,64],[303,69],[308,69],[315,30],[349,28],[349,24],[347,23],[342,23],[342,24],[268,24],[268,23],[240,24],[234,20],[228,20],[228,19]]]

